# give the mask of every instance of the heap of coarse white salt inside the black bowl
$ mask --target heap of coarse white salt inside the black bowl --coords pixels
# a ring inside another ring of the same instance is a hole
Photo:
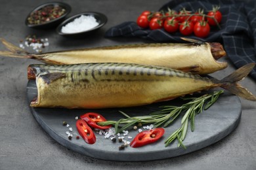
[[[81,15],[75,18],[73,22],[64,25],[61,29],[62,33],[79,33],[96,27],[98,22],[94,16]]]

